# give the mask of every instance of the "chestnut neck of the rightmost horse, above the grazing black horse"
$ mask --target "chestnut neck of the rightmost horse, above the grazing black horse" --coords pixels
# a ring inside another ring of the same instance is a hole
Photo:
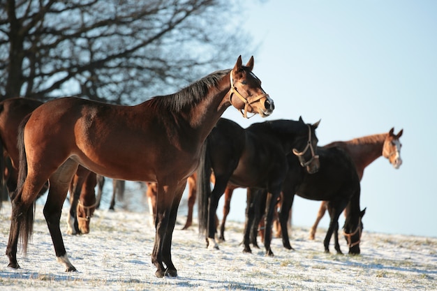
[[[341,147],[346,150],[355,163],[361,180],[364,168],[383,155],[385,137],[387,137],[386,133],[368,135],[346,142],[332,142],[327,144],[327,147]]]

